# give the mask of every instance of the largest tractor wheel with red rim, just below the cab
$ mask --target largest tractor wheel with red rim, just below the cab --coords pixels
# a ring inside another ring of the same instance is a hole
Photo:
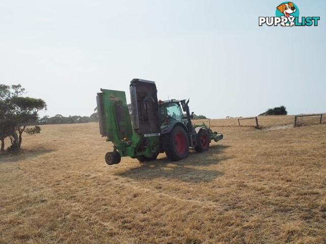
[[[164,137],[165,153],[171,161],[178,161],[188,157],[188,135],[181,126],[176,126]]]

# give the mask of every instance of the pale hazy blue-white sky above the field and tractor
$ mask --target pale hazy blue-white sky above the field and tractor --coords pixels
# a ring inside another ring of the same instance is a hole
[[[0,0],[0,83],[42,98],[41,115],[90,115],[100,88],[156,82],[210,118],[326,112],[326,1],[295,1],[318,26],[258,26],[281,1]]]

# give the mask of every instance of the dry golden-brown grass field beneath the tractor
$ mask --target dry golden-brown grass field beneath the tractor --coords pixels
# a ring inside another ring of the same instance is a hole
[[[326,243],[326,124],[211,120],[209,151],[123,158],[95,123],[41,126],[0,156],[0,243]]]

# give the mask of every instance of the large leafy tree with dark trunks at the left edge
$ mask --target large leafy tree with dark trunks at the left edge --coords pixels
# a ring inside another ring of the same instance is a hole
[[[1,150],[5,147],[5,138],[9,137],[12,150],[20,149],[22,133],[28,132],[26,126],[36,123],[38,112],[46,109],[42,99],[22,97],[25,89],[18,85],[0,84],[0,140]],[[39,133],[40,128],[34,128],[30,134]]]

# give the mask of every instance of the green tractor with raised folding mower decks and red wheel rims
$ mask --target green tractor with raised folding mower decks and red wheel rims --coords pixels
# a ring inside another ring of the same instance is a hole
[[[189,100],[158,101],[153,81],[131,80],[130,99],[131,114],[124,92],[101,89],[96,97],[100,134],[114,144],[105,155],[108,165],[127,156],[151,161],[164,152],[169,160],[178,161],[188,156],[189,147],[202,153],[211,140],[223,138],[205,124],[193,125]]]

